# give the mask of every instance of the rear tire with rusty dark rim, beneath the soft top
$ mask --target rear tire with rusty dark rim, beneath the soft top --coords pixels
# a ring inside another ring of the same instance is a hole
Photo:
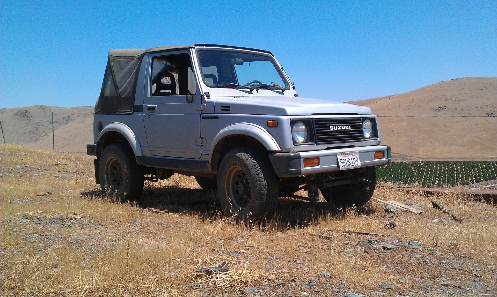
[[[143,191],[144,173],[133,150],[127,144],[111,144],[104,148],[99,159],[102,190],[118,201],[137,200]]]

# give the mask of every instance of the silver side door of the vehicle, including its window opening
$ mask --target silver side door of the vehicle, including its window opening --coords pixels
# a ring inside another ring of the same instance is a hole
[[[150,55],[144,96],[144,124],[156,156],[200,158],[200,110],[188,51]]]

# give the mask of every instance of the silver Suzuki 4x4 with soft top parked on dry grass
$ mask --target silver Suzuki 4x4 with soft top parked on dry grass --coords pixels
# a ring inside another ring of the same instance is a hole
[[[110,51],[93,139],[96,183],[116,199],[179,173],[245,221],[319,191],[364,205],[391,161],[369,107],[299,97],[271,52],[213,44]]]

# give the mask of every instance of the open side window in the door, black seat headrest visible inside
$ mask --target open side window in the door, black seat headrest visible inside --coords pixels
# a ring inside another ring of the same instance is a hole
[[[154,57],[150,74],[150,95],[195,94],[197,85],[191,69],[190,55]]]

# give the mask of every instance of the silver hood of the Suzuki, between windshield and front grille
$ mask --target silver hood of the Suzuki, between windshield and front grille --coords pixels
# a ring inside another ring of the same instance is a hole
[[[371,114],[366,106],[290,96],[249,96],[215,99],[215,113],[297,116],[312,114]]]

